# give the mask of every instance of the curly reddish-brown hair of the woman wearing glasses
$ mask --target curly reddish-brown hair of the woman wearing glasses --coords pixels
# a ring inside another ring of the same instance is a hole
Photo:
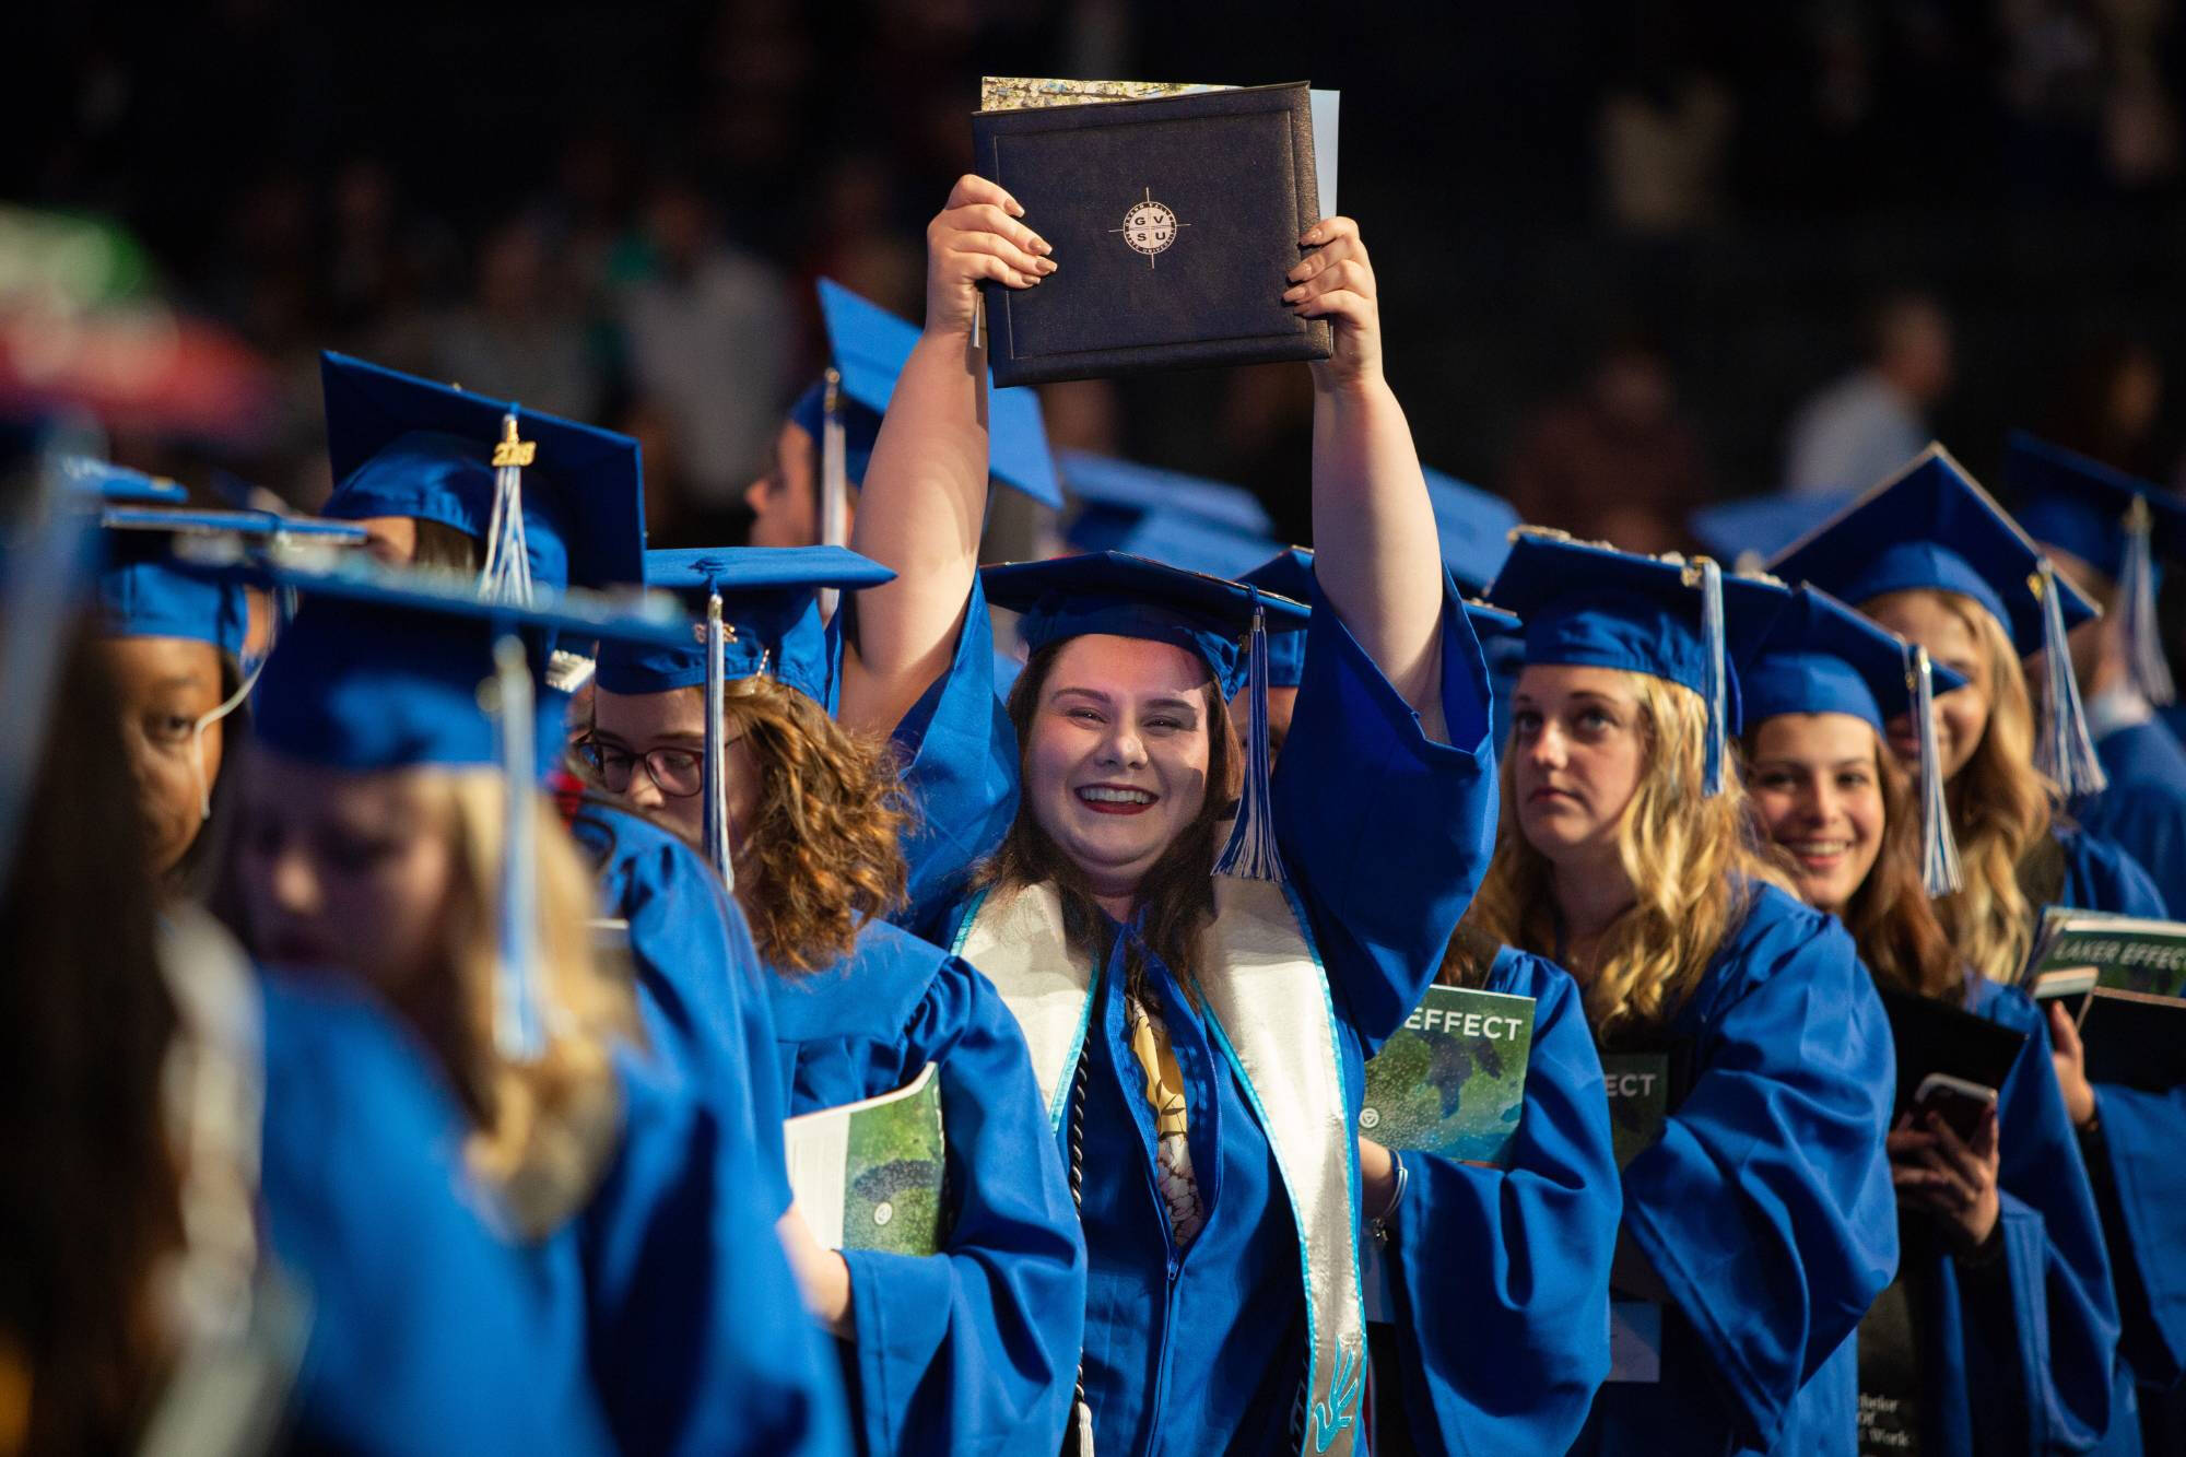
[[[759,761],[737,855],[752,941],[776,971],[820,971],[850,954],[866,921],[905,904],[903,770],[883,739],[850,733],[774,678],[728,683],[721,707]]]

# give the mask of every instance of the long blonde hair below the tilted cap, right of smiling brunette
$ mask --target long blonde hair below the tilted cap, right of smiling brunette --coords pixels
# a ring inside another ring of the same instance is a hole
[[[1965,888],[1939,897],[1935,912],[1959,956],[1989,980],[2013,982],[2033,949],[2037,910],[2020,888],[2020,862],[2048,838],[2061,796],[2035,768],[2033,698],[2005,626],[1972,597],[1935,588],[1917,595],[1967,626],[1989,672],[1989,724],[1943,785]]]

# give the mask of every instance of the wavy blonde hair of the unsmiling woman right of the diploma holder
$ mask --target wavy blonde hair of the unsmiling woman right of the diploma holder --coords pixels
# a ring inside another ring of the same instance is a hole
[[[1707,707],[1692,689],[1620,674],[1640,702],[1642,768],[1618,862],[1633,904],[1609,923],[1578,976],[1602,1046],[1664,1028],[1692,995],[1716,947],[1744,919],[1758,882],[1790,890],[1762,853],[1744,788],[1725,766],[1720,794],[1701,794]],[[1554,866],[1519,829],[1515,755],[1502,764],[1495,855],[1465,923],[1524,952],[1556,956]]]

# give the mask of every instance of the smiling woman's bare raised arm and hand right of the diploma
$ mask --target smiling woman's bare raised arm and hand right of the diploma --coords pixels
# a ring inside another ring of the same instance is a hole
[[[1412,427],[1382,376],[1382,308],[1358,223],[1329,217],[1283,295],[1336,326],[1314,365],[1314,571],[1375,667],[1430,739],[1447,742],[1441,693],[1443,553]]]

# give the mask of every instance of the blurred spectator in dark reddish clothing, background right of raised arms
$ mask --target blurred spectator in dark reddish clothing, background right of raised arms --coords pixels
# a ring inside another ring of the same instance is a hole
[[[1637,333],[1602,350],[1587,385],[1519,438],[1504,477],[1519,516],[1626,551],[1683,545],[1707,499],[1701,442],[1679,416],[1670,363]]]

